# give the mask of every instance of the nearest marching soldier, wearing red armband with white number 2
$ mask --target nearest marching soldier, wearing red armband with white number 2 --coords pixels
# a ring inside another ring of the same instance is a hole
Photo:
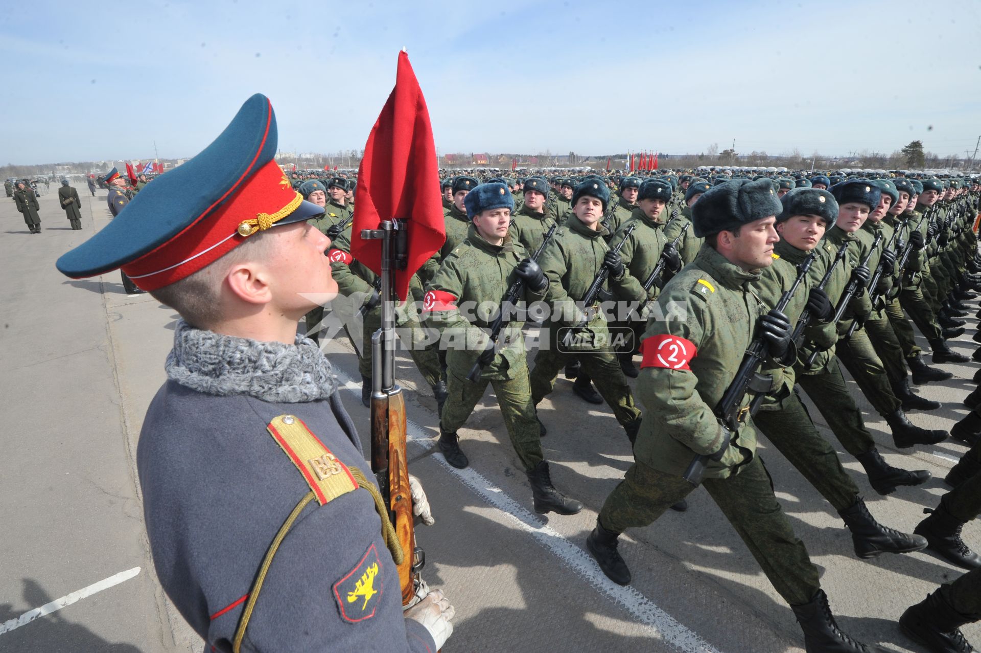
[[[769,180],[724,183],[695,205],[696,236],[707,246],[658,299],[662,310],[668,302],[680,302],[686,317],[647,324],[638,382],[646,412],[635,463],[606,498],[587,547],[610,579],[629,583],[630,570],[617,552],[620,533],[650,524],[684,499],[694,486],[683,472],[697,455],[709,456],[705,489],[794,610],[806,649],[880,651],[854,642],[835,624],[818,571],[781,511],[755,451],[752,417],[745,416],[733,433],[713,412],[754,332],[774,360],[793,350],[786,316],[767,312],[750,288],[759,270],[773,261],[779,241],[774,216],[782,210]],[[744,402],[748,406],[749,398]]]

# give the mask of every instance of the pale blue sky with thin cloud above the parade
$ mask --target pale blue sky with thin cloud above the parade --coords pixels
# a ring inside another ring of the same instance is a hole
[[[116,3],[0,22],[0,164],[192,156],[252,93],[283,151],[360,149],[398,50],[440,152],[948,155],[981,136],[981,5]]]

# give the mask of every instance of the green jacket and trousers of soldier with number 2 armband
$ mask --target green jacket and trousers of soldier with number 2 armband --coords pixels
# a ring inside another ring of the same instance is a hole
[[[723,433],[712,407],[735,377],[755,323],[766,311],[750,290],[758,277],[758,272],[746,272],[703,247],[695,262],[661,291],[662,310],[680,302],[686,319],[651,320],[645,342],[665,337],[688,341],[676,341],[663,352],[673,351],[668,364],[687,359],[690,369],[654,361],[643,366],[638,392],[645,419],[634,447],[635,463],[599,512],[598,523],[606,530],[619,533],[660,517],[694,489],[682,477],[694,457],[721,447]],[[694,351],[679,358],[681,345]],[[748,416],[721,461],[707,463],[703,485],[780,595],[791,605],[802,605],[820,588],[817,570],[774,497],[770,475],[755,449]]]

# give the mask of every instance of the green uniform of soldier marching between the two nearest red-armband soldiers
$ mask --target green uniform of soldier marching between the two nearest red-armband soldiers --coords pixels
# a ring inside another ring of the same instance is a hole
[[[604,240],[607,235],[602,226],[594,231],[575,215],[555,231],[539,260],[542,272],[548,278],[547,299],[552,306],[552,322],[548,329],[548,348],[535,355],[532,370],[532,394],[537,406],[542,398],[551,393],[555,377],[566,362],[578,357],[583,368],[593,379],[596,389],[623,426],[632,426],[641,418],[641,411],[634,405],[634,396],[620,363],[609,344],[609,329],[603,311],[596,310],[589,324],[579,330],[592,344],[563,348],[559,339],[564,338],[575,325],[582,311],[575,305],[581,301],[603,264],[603,256],[609,250]],[[611,281],[612,290],[618,290],[617,282]],[[585,308],[591,308],[586,306]],[[559,333],[561,331],[561,333]],[[574,351],[575,354],[569,352]]]

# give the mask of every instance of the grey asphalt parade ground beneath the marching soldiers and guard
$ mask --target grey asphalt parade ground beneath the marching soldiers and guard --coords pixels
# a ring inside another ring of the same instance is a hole
[[[178,316],[148,295],[128,297],[118,272],[73,281],[55,269],[61,253],[110,219],[105,190],[95,197],[84,185],[77,190],[82,230],[71,231],[52,186],[39,198],[40,235],[28,233],[11,198],[0,197],[0,651],[199,652],[201,640],[156,581],[135,469],[143,414],[164,381]],[[973,315],[977,300],[969,303]],[[974,333],[968,328],[952,347],[971,354]],[[356,356],[344,338],[325,351],[367,451]],[[940,366],[955,378],[917,392],[942,408],[909,417],[949,430],[967,411],[961,402],[974,387],[978,363]],[[690,495],[687,513],[669,511],[622,538],[632,585],[615,585],[599,571],[586,553],[586,535],[631,463],[631,450],[608,408],[582,402],[570,381],[560,376],[540,406],[548,427],[542,444],[555,485],[586,508],[573,517],[542,517],[532,510],[531,489],[490,388],[460,430],[471,466],[458,470],[436,448],[429,387],[404,353],[396,369],[406,390],[410,470],[422,480],[437,520],[416,531],[426,551],[424,576],[456,607],[444,651],[802,650],[790,608],[704,490]],[[872,515],[910,532],[922,509],[935,507],[949,489],[942,479],[966,448],[947,440],[901,453],[883,420],[852,389],[886,460],[929,469],[934,478],[880,497],[818,423]],[[816,409],[811,415],[820,420]],[[201,433],[207,437],[207,424]],[[921,650],[896,621],[962,571],[927,552],[858,560],[834,509],[765,440],[760,453],[823,571],[839,625],[889,650]],[[977,520],[965,526],[963,538],[981,548]],[[334,579],[321,580],[329,601]],[[963,631],[981,643],[981,624]]]

